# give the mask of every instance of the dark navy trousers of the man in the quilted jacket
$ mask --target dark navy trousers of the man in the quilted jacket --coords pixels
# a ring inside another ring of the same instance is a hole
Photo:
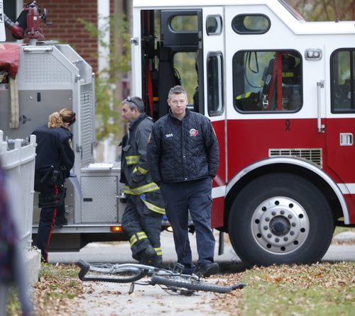
[[[192,266],[188,237],[188,212],[195,225],[199,266],[214,262],[214,236],[211,230],[212,180],[200,179],[162,184],[160,191],[166,203],[166,215],[173,227],[178,262]]]

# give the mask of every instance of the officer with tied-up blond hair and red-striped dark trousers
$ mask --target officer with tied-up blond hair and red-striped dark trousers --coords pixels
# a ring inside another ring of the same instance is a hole
[[[33,131],[37,148],[35,158],[35,191],[40,192],[38,205],[40,223],[37,247],[42,260],[48,262],[48,244],[55,223],[57,227],[67,224],[65,218],[65,178],[70,176],[75,154],[72,150],[70,126],[75,123],[75,112],[63,108],[52,113],[48,124]]]

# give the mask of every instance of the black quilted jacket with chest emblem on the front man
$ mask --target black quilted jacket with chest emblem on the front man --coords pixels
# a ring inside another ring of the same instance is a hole
[[[214,178],[219,166],[219,147],[209,119],[186,110],[182,120],[171,113],[154,125],[148,140],[151,176],[160,182]]]

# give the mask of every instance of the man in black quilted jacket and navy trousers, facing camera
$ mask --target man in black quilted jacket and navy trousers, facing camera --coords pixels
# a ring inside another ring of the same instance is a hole
[[[151,176],[160,186],[184,273],[195,271],[188,238],[190,210],[200,273],[210,276],[219,272],[211,230],[212,179],[219,167],[217,137],[208,118],[187,109],[187,94],[182,86],[170,89],[168,105],[169,113],[153,125],[148,139]]]

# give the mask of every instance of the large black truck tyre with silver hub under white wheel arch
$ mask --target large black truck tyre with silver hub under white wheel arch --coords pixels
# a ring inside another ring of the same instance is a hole
[[[229,215],[231,244],[250,265],[320,261],[333,232],[326,198],[295,174],[267,174],[251,181],[236,196]]]

